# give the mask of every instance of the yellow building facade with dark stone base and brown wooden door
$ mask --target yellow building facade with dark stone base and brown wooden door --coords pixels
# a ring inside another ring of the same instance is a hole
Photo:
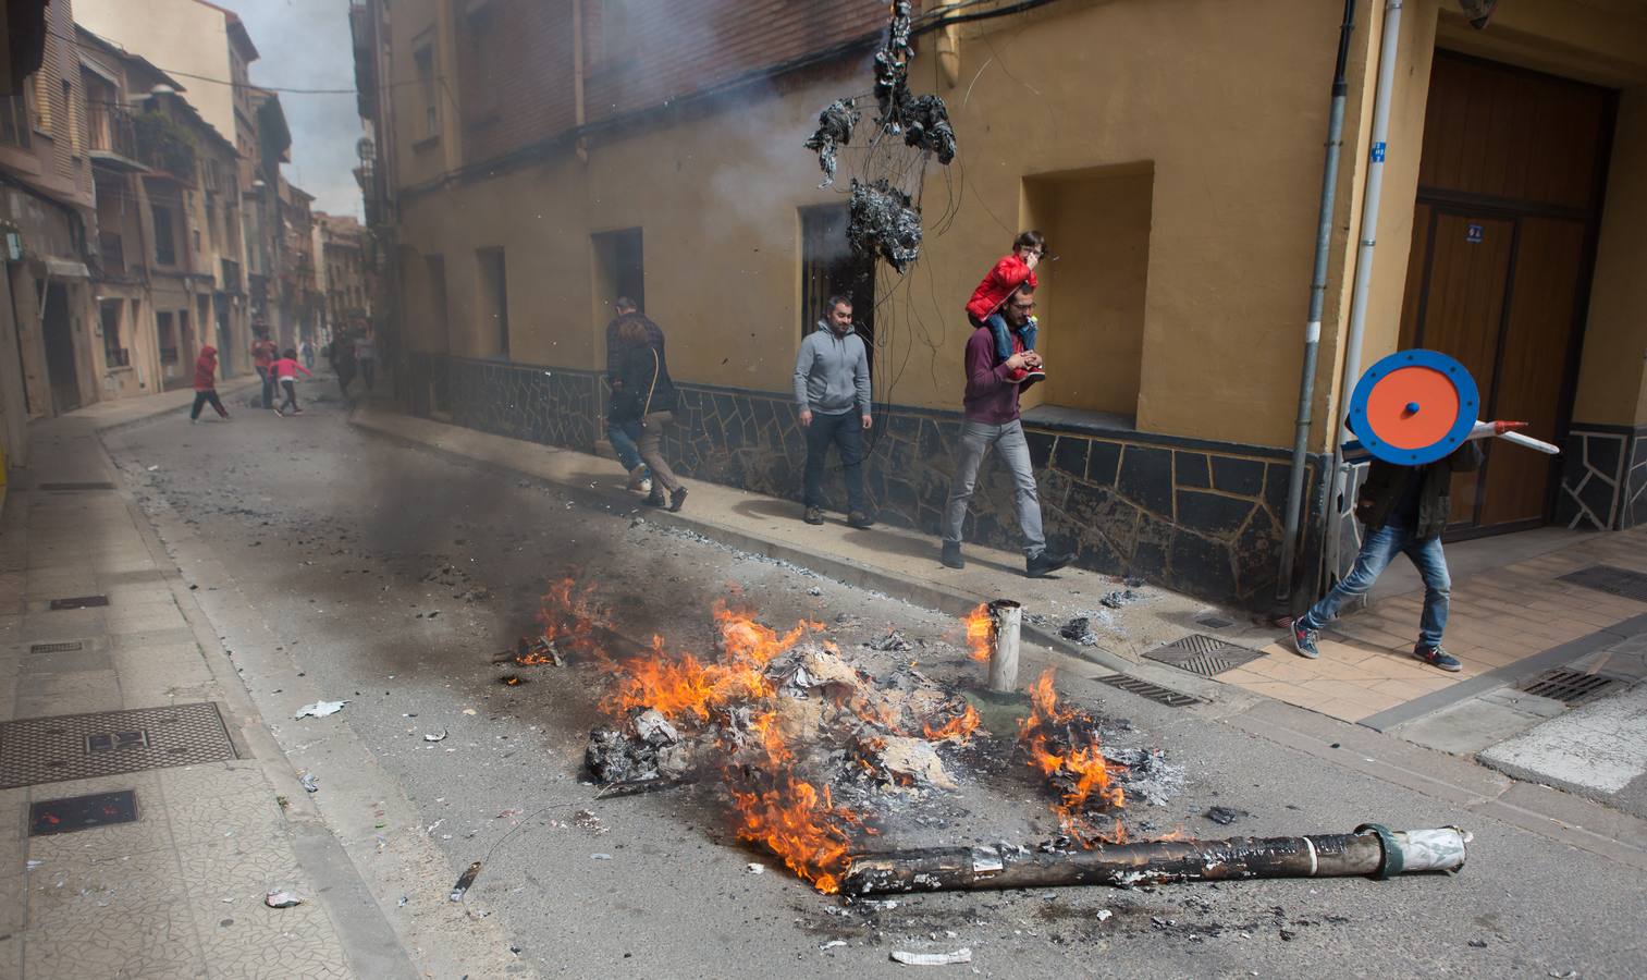
[[[489,30],[478,16],[530,41],[542,12],[412,0],[377,35],[374,54],[404,81],[382,91],[376,122],[412,407],[596,446],[611,301],[641,292],[685,389],[670,446],[682,469],[796,497],[791,371],[820,283],[843,288],[828,283],[840,257],[819,229],[838,224],[855,166],[845,152],[842,186],[819,189],[802,142],[822,107],[868,91],[878,38],[819,26],[827,56],[728,66],[730,54],[703,54],[656,99],[632,76],[664,49],[651,35],[591,26],[590,0],[544,7],[565,15],[573,49],[565,71],[529,87],[504,81],[516,77],[507,48],[492,74],[466,59]],[[1026,397],[1024,422],[1049,530],[1084,565],[1268,604],[1342,7],[1059,0],[993,18],[982,15],[1003,5],[927,7],[911,86],[947,100],[960,152],[926,163],[919,264],[901,277],[879,265],[873,311],[860,310],[883,418],[870,460],[883,520],[935,530],[960,410],[962,306],[1013,236],[1039,227],[1052,255],[1038,292],[1049,380]],[[939,23],[942,7],[957,7],[955,23]],[[1357,3],[1351,40],[1304,535],[1296,588],[1281,590],[1299,596],[1342,562],[1326,547],[1344,519],[1324,473],[1354,384],[1342,362],[1388,7]],[[1393,7],[1360,362],[1413,341],[1451,344],[1489,410],[1525,412],[1568,446],[1548,471],[1499,464],[1515,486],[1537,483],[1494,492],[1514,506],[1487,502],[1495,484],[1469,488],[1458,534],[1637,524],[1647,3],[1527,0],[1486,30],[1439,0]],[[693,49],[690,25],[674,26]],[[614,49],[634,53],[629,68],[613,66]],[[476,89],[494,86],[506,97],[478,110],[488,100]],[[647,97],[631,97],[641,89]],[[552,97],[570,107],[565,125],[520,122],[558,119]],[[1449,122],[1438,130],[1438,119]],[[497,127],[511,125],[519,135],[499,150]],[[1011,544],[1010,481],[988,471],[967,537]]]

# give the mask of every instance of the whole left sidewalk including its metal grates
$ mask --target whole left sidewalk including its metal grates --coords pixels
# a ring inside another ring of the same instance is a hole
[[[0,975],[415,975],[99,441],[191,402],[30,428],[0,517]],[[130,797],[63,802],[92,794]],[[109,822],[68,830],[82,810]]]

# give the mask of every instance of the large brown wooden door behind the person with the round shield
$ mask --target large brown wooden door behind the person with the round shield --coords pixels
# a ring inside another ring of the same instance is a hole
[[[1458,357],[1484,418],[1566,436],[1612,94],[1438,51],[1430,79],[1402,346]],[[1497,440],[1453,484],[1454,537],[1548,516],[1558,464]]]

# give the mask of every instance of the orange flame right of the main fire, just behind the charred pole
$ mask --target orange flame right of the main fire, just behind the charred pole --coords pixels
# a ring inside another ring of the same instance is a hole
[[[1064,832],[1089,847],[1094,840],[1112,838],[1108,833],[1095,832],[1084,815],[1090,802],[1102,800],[1110,807],[1127,802],[1122,787],[1110,786],[1110,764],[1099,749],[1090,720],[1080,712],[1057,705],[1051,667],[1029,685],[1029,703],[1033,707],[1029,716],[1018,723],[1018,741],[1028,749],[1031,768],[1039,769],[1047,779],[1057,777],[1059,784],[1069,786],[1052,804]],[[1072,741],[1077,731],[1092,741],[1062,748],[1052,741],[1059,730],[1066,733],[1067,741]],[[1125,835],[1120,820],[1115,822],[1113,833]]]

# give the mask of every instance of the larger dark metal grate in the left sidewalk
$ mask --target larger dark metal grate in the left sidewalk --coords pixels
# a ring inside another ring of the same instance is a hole
[[[0,723],[0,789],[234,758],[212,703]]]

